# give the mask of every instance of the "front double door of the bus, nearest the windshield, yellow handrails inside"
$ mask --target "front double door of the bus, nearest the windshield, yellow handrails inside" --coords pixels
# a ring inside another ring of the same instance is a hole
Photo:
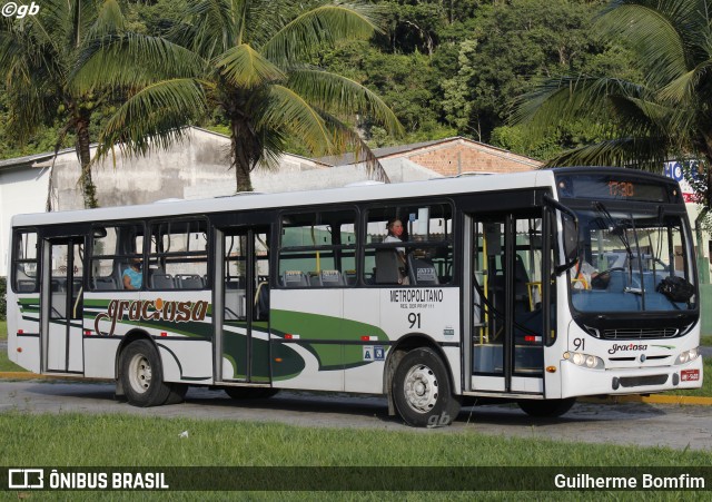
[[[465,308],[472,392],[543,394],[545,308],[542,270],[550,266],[542,210],[466,217]],[[545,249],[546,247],[546,249]]]

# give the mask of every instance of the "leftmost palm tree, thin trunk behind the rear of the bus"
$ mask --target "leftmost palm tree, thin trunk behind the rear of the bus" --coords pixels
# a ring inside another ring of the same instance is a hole
[[[91,179],[91,114],[111,93],[99,85],[78,89],[72,72],[92,40],[121,29],[123,16],[117,0],[46,0],[37,14],[3,18],[0,24],[0,71],[10,108],[8,129],[24,141],[42,125],[59,119],[56,151],[73,132],[87,208],[98,205]]]

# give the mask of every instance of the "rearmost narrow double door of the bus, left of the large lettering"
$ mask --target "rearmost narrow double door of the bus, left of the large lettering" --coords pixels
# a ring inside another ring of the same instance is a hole
[[[83,237],[47,239],[42,334],[48,372],[83,373]]]

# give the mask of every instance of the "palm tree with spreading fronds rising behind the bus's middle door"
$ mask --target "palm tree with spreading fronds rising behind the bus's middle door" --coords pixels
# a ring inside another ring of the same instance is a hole
[[[109,120],[100,155],[116,142],[129,155],[165,147],[184,134],[181,126],[217,106],[229,122],[238,191],[253,189],[253,169],[274,165],[290,137],[316,155],[355,148],[378,176],[375,158],[346,120],[368,114],[399,131],[395,115],[359,83],[308,65],[336,40],[369,37],[377,29],[372,8],[307,4],[190,0],[170,41],[127,35],[93,47],[86,55],[89,77],[80,72],[80,80],[92,85],[100,68],[115,83],[137,89]],[[151,80],[159,73],[166,77]]]

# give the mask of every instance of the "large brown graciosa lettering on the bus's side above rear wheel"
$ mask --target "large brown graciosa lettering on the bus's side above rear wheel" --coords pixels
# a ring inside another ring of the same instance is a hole
[[[100,336],[111,336],[116,329],[116,323],[125,316],[129,321],[166,321],[169,323],[187,323],[189,321],[204,321],[208,313],[208,302],[165,302],[156,301],[126,301],[112,299],[107,312],[97,316],[93,329]],[[111,323],[105,333],[99,328],[99,323]]]

